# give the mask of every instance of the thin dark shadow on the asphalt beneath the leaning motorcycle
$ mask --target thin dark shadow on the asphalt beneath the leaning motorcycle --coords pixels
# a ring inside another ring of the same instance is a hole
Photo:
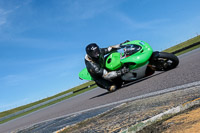
[[[155,73],[155,74],[153,74],[153,75],[150,75],[150,76],[148,76],[148,77],[141,78],[141,79],[138,79],[138,80],[133,81],[133,82],[124,83],[124,85],[122,85],[122,87],[119,88],[119,89],[123,89],[123,88],[125,88],[125,87],[131,86],[131,85],[133,85],[133,84],[139,83],[139,82],[144,81],[144,80],[147,80],[147,79],[149,79],[149,78],[152,78],[152,77],[154,77],[154,76],[158,76],[158,75],[160,75],[160,74],[162,74],[162,73],[164,73],[164,72],[165,72],[165,71],[163,71],[163,72],[157,72],[157,73]],[[119,90],[119,89],[117,89],[117,90]],[[116,90],[116,91],[117,91],[117,90]],[[102,94],[100,94],[100,95],[91,97],[90,99],[95,99],[95,98],[97,98],[97,97],[102,97],[102,96],[105,96],[105,95],[110,94],[110,93],[112,93],[112,92],[105,92],[105,93],[102,93]]]

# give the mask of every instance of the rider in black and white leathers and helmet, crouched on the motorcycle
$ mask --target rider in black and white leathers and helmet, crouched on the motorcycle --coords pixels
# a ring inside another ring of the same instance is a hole
[[[128,40],[124,43],[129,42]],[[117,50],[123,43],[110,46],[108,48],[99,48],[96,43],[90,43],[86,47],[85,64],[88,72],[92,76],[96,84],[109,91],[115,91],[117,86],[113,84],[112,79],[117,78],[129,71],[128,68],[123,67],[118,71],[108,71],[105,69],[104,55]]]

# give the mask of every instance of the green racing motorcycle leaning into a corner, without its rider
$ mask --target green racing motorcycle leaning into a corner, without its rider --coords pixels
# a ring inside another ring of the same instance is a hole
[[[120,78],[113,79],[113,84],[121,87],[123,83],[152,75],[155,71],[168,71],[179,64],[177,56],[166,52],[153,52],[151,46],[141,40],[122,44],[120,49],[105,56],[105,68],[116,71],[128,67],[130,71]],[[93,80],[87,68],[79,73],[79,78]]]

